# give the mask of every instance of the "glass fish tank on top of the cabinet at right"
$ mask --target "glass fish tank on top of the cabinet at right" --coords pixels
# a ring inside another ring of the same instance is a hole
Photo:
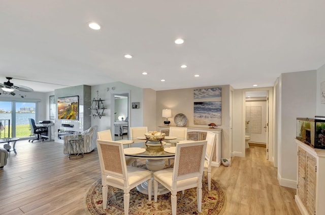
[[[325,149],[325,116],[297,118],[296,138],[312,148]]]

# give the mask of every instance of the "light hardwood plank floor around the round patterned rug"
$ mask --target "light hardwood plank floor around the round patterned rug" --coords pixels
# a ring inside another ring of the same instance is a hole
[[[60,143],[18,141],[16,149],[0,169],[0,214],[85,214],[86,190],[101,176],[96,150],[69,160]],[[296,190],[279,186],[265,148],[252,146],[246,156],[212,169],[226,194],[223,214],[299,215]]]

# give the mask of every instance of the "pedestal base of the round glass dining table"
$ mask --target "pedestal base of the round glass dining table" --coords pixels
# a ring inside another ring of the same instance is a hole
[[[146,161],[146,165],[147,168],[149,170],[151,170],[152,172],[160,170],[160,169],[164,169],[165,168],[165,159],[158,159],[158,160],[151,160],[151,159],[147,159]],[[151,179],[151,182],[153,184],[153,177]],[[137,186],[137,190],[140,193],[146,194],[148,195],[148,183],[145,181],[142,184]],[[158,195],[163,195],[166,193],[169,193],[170,191],[168,189],[166,189],[163,185],[158,184]],[[153,189],[151,190],[151,195],[153,195]]]

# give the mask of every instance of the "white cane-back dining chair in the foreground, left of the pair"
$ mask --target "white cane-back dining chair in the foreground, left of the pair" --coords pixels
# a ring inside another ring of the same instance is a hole
[[[103,208],[107,208],[108,186],[123,190],[124,215],[128,214],[130,190],[145,181],[148,184],[148,200],[151,201],[151,171],[127,166],[121,142],[105,140],[96,142],[102,171]]]

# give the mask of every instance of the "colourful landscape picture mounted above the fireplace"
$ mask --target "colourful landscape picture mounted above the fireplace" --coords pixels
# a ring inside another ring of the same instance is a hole
[[[79,96],[57,98],[57,118],[79,120]]]

